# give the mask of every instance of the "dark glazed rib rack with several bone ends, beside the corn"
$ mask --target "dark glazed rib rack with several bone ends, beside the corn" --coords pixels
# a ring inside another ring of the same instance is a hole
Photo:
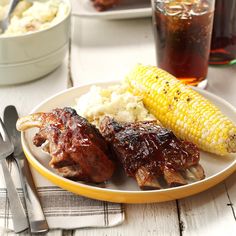
[[[127,176],[143,190],[181,186],[205,177],[198,148],[156,121],[118,123],[105,117],[100,131]]]

